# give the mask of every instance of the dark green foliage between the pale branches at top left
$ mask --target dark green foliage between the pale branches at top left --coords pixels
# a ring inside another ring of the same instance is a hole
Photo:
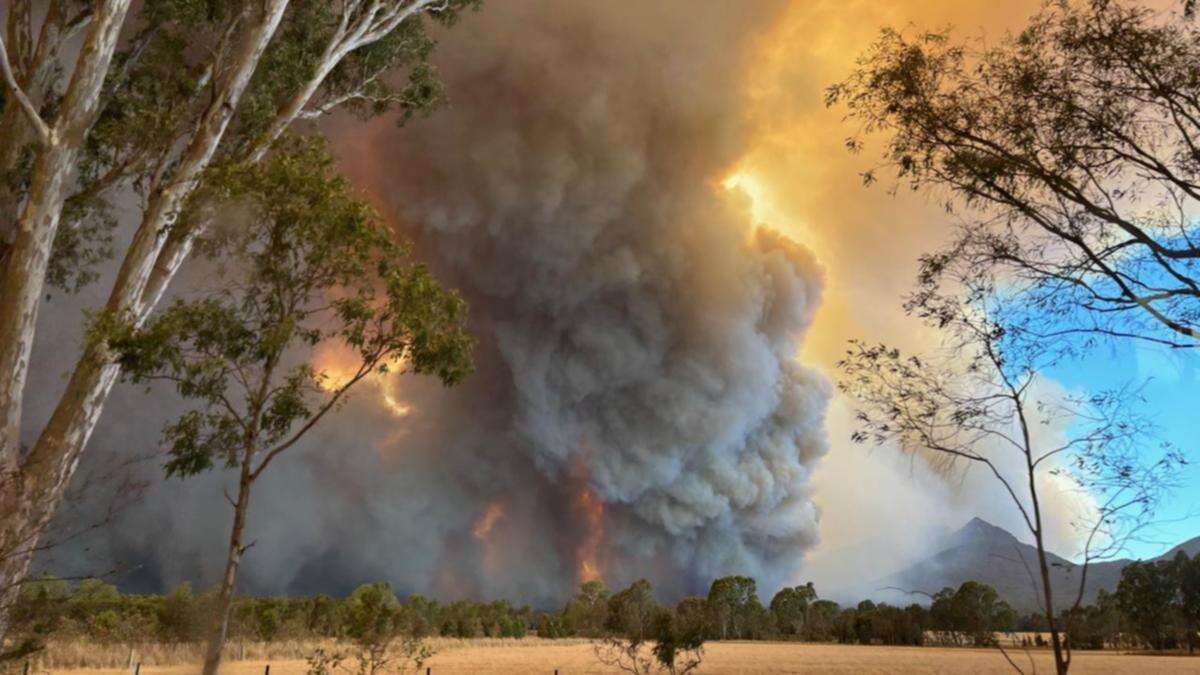
[[[70,186],[73,191],[48,270],[50,283],[73,292],[94,281],[96,265],[113,255],[118,223],[113,193],[133,189],[144,196],[169,178],[181,142],[211,103],[212,60],[227,56],[227,38],[245,20],[245,5],[241,0],[151,0],[130,12],[130,37],[114,54],[97,120],[84,139],[76,185]],[[449,25],[478,6],[479,0],[451,0],[431,17]],[[341,18],[332,2],[290,2],[239,102],[217,151],[220,161],[244,160],[289,100],[317,74]],[[394,112],[400,124],[436,108],[445,92],[430,61],[434,42],[427,35],[428,18],[410,17],[379,40],[344,54],[308,108],[344,108],[359,118]],[[62,68],[55,77],[62,77]],[[50,89],[56,86],[61,83]],[[31,153],[24,153],[0,177],[11,193],[28,189],[30,160]]]

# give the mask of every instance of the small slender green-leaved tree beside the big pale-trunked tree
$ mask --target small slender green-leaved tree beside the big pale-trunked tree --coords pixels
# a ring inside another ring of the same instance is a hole
[[[211,202],[236,203],[257,223],[217,221],[198,240],[224,268],[220,287],[140,328],[97,327],[130,378],[173,382],[194,404],[164,429],[167,476],[218,465],[239,476],[205,673],[221,661],[251,490],[264,471],[372,374],[401,366],[455,384],[470,370],[462,300],[409,259],[322,145],[288,139],[260,163],[209,175]],[[329,345],[352,354],[348,376],[318,369],[314,350]]]

